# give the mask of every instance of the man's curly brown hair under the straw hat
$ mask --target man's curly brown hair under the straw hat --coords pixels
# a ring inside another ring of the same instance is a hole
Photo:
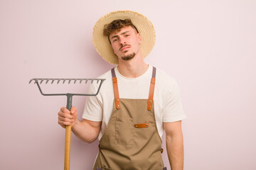
[[[109,38],[111,33],[113,33],[116,30],[119,31],[119,30],[121,30],[121,28],[124,28],[127,26],[131,26],[132,28],[134,28],[137,31],[137,33],[139,33],[139,31],[133,25],[132,21],[129,18],[124,19],[124,20],[122,20],[122,19],[114,20],[111,23],[106,24],[104,26],[103,33],[105,36],[107,36]]]

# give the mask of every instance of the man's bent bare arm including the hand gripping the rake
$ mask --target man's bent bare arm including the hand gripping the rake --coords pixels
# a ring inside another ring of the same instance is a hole
[[[73,133],[85,142],[93,142],[97,139],[102,122],[94,122],[83,119],[78,120],[78,110],[73,107],[70,111],[67,108],[60,108],[58,112],[58,124],[65,128],[71,125]]]

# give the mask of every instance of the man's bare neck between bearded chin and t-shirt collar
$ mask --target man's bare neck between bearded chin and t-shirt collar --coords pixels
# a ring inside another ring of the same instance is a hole
[[[143,61],[142,57],[134,57],[129,61],[120,61],[117,69],[120,74],[128,78],[140,77],[146,72],[149,68],[149,65]]]

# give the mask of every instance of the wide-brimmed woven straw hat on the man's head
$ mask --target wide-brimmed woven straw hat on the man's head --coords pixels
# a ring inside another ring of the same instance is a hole
[[[156,33],[153,24],[146,18],[146,16],[134,11],[114,11],[107,13],[107,15],[102,16],[102,18],[95,24],[92,31],[92,42],[99,55],[112,64],[118,64],[117,55],[114,54],[114,50],[112,49],[107,36],[103,35],[103,29],[105,24],[109,24],[117,19],[127,18],[131,19],[142,37],[142,57],[144,58],[149,55],[149,52],[151,52],[154,47]]]

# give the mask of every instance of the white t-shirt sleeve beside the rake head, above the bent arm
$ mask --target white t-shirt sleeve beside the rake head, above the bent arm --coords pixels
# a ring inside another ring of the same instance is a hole
[[[88,93],[94,94],[97,91],[94,84],[91,84]],[[82,118],[100,122],[102,121],[102,103],[100,102],[100,95],[97,96],[87,96],[85,101],[85,109],[82,113]]]

